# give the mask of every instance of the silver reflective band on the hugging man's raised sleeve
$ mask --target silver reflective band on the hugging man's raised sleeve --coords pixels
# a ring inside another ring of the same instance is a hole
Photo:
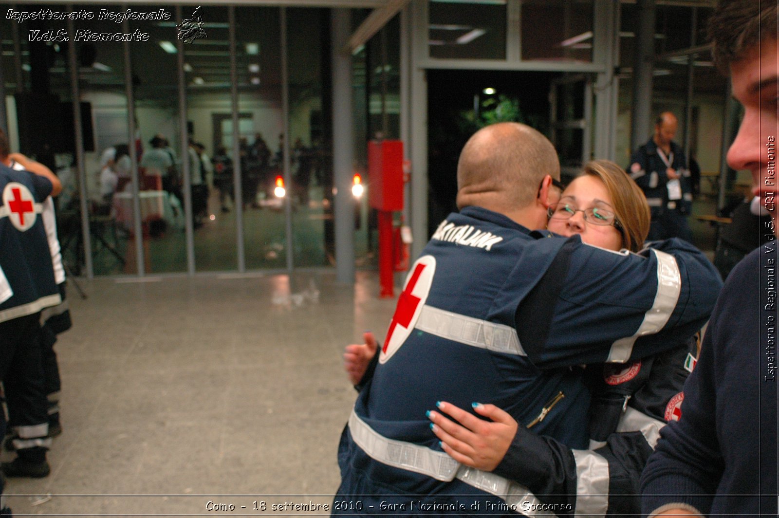
[[[643,322],[632,337],[620,338],[612,344],[606,361],[625,363],[633,352],[638,337],[657,333],[671,318],[679,293],[682,291],[682,275],[673,255],[652,250],[657,258],[657,294],[652,307],[643,315]]]

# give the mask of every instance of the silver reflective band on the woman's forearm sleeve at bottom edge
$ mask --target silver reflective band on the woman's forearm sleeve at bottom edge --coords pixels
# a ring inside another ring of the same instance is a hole
[[[572,449],[576,460],[576,516],[604,516],[608,509],[608,460],[587,449]]]

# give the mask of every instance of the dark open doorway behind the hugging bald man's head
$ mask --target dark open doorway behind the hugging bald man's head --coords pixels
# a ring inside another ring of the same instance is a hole
[[[549,89],[559,76],[428,70],[428,236],[456,210],[457,158],[467,139],[484,125],[509,120],[550,136]]]

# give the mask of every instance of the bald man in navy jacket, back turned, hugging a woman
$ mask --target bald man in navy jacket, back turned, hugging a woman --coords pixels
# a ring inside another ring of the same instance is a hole
[[[716,270],[683,241],[641,257],[530,232],[545,227],[559,162],[525,125],[477,132],[457,178],[460,212],[411,267],[342,435],[334,514],[365,513],[340,505],[349,495],[362,495],[363,509],[390,502],[394,514],[542,505],[527,488],[443,452],[428,409],[490,400],[517,422],[536,421],[538,434],[586,449],[590,401],[577,365],[663,351],[699,329],[716,298]],[[555,293],[554,303],[523,305],[537,289]]]

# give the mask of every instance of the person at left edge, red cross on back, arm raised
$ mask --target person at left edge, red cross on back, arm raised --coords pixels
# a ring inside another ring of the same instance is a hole
[[[6,477],[45,477],[49,472],[46,449],[51,439],[38,337],[41,310],[58,305],[61,298],[40,214],[47,196],[61,189],[48,170],[31,174],[0,164],[0,379],[19,438],[16,458],[2,463]],[[5,435],[5,414],[0,415]]]

